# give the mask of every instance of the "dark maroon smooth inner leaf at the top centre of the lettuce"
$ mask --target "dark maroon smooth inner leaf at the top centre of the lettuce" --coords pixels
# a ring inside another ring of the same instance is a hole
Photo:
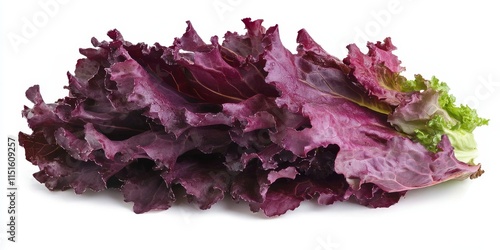
[[[249,30],[246,35],[226,35],[228,47],[223,47],[216,36],[211,38],[211,44],[205,44],[188,22],[186,33],[174,42],[172,53],[175,62],[189,72],[191,94],[194,92],[198,99],[210,103],[239,102],[256,94],[277,95],[276,90],[265,82],[262,67],[256,67],[259,61],[255,57],[247,55],[247,51],[231,50],[247,46],[246,38],[255,40],[262,36],[255,32],[260,23],[246,21],[246,25]],[[248,60],[242,61],[242,57],[248,57]],[[239,63],[233,66],[234,61]]]

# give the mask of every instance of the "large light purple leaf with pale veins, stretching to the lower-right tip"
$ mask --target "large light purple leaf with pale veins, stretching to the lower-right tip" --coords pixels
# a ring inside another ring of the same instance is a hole
[[[437,153],[429,152],[395,131],[387,122],[387,116],[347,102],[338,95],[317,91],[316,86],[322,84],[349,82],[338,78],[316,83],[322,78],[304,77],[302,72],[320,73],[311,71],[310,64],[283,47],[277,27],[268,30],[267,44],[267,80],[281,92],[277,102],[311,121],[311,128],[300,131],[288,128],[275,134],[272,140],[276,144],[299,157],[318,147],[338,145],[335,172],[343,174],[354,189],[373,183],[386,192],[400,192],[478,171],[478,166],[454,159],[449,143],[443,142]],[[379,47],[383,45],[378,44]],[[397,68],[395,64],[389,65]]]

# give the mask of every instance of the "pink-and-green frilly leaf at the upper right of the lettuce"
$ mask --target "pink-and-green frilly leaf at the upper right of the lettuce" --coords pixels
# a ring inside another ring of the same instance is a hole
[[[402,76],[404,68],[397,57],[389,53],[396,49],[390,39],[369,43],[367,55],[356,45],[348,48],[345,61],[353,70],[352,75],[369,95],[393,106],[388,121],[394,128],[432,152],[437,152],[442,136],[446,135],[457,159],[474,164],[478,151],[472,132],[478,126],[487,125],[487,119],[480,118],[468,106],[457,106],[448,85],[436,77],[427,80],[415,75],[415,79],[408,80]]]

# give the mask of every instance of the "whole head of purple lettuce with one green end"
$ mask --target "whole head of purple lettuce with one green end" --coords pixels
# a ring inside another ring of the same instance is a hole
[[[409,190],[482,174],[473,130],[436,78],[407,80],[390,38],[349,45],[341,60],[300,30],[296,53],[278,26],[205,43],[190,22],[171,46],[117,30],[68,73],[68,95],[26,91],[19,133],[50,190],[118,189],[136,213],[179,196],[200,209],[225,197],[267,216],[304,200],[388,207]]]

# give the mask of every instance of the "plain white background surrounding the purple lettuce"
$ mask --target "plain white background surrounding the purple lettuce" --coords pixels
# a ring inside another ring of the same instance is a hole
[[[37,167],[24,160],[21,149],[18,242],[6,241],[7,203],[0,192],[0,249],[500,249],[495,1],[55,1],[0,4],[2,190],[7,136],[30,132],[21,117],[23,105],[31,106],[24,91],[40,84],[47,102],[65,96],[66,71],[73,72],[82,57],[78,48],[91,47],[91,37],[108,39],[106,32],[117,28],[134,43],[170,45],[191,20],[209,41],[228,30],[244,33],[244,17],[263,18],[266,27],[279,24],[290,50],[296,32],[306,28],[340,58],[348,43],[391,36],[406,75],[438,76],[458,101],[491,119],[475,133],[477,161],[486,173],[409,192],[388,209],[304,202],[269,219],[226,200],[207,211],[180,202],[167,211],[136,215],[117,192],[49,192],[32,177]],[[44,7],[49,2],[53,5]]]

